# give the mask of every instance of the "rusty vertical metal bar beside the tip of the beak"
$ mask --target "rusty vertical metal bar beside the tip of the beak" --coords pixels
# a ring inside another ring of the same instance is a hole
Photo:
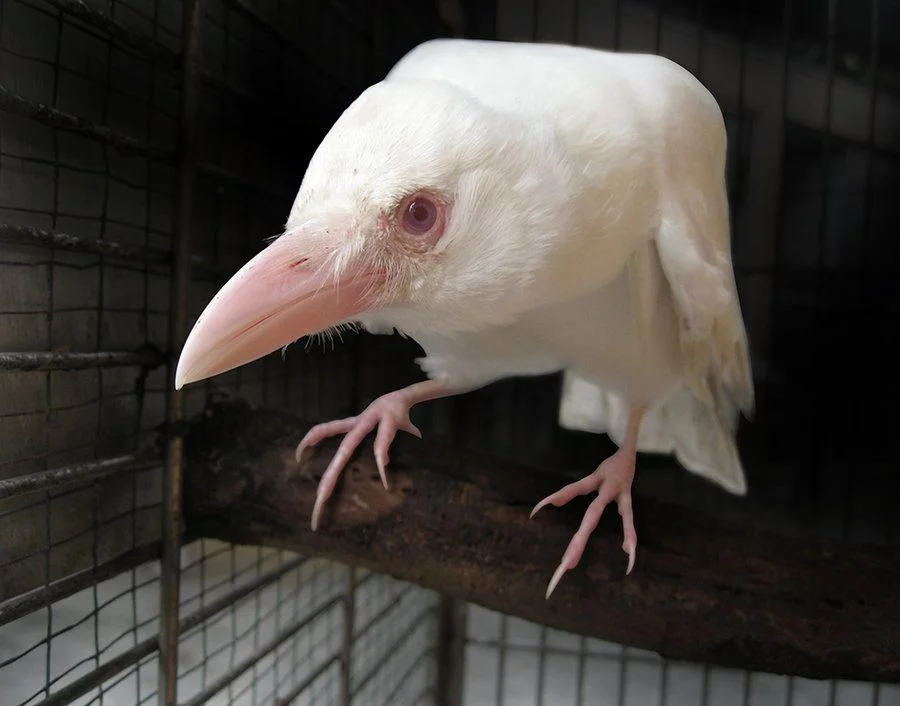
[[[196,179],[195,127],[201,80],[200,29],[203,0],[185,0],[182,19],[181,125],[175,247],[170,283],[169,360],[166,420],[184,417],[184,392],[174,389],[175,365],[187,335],[191,276],[191,214]],[[181,437],[169,441],[163,479],[162,569],[160,573],[159,703],[175,706],[178,687],[179,583],[181,553]]]

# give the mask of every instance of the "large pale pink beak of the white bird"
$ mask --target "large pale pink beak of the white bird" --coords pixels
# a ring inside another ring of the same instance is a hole
[[[175,389],[262,358],[311,333],[365,311],[371,272],[335,279],[302,257],[302,234],[284,235],[219,290],[191,330],[175,372]]]

